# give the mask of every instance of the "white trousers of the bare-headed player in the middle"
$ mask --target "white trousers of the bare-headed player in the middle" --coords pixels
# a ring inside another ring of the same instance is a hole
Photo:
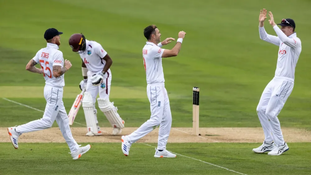
[[[172,126],[172,114],[164,84],[147,85],[147,96],[150,102],[151,117],[127,136],[128,141],[134,143],[160,125],[157,149],[165,150]]]

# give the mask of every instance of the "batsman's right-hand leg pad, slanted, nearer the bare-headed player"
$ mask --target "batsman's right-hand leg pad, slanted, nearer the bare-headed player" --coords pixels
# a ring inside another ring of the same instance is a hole
[[[114,104],[105,98],[97,98],[98,107],[102,112],[104,112],[111,126],[114,128],[124,128],[123,120],[119,116]]]

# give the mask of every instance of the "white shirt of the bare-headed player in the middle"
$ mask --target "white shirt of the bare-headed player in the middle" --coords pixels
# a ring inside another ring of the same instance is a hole
[[[152,42],[146,42],[142,49],[147,84],[164,84],[162,54],[165,49]]]

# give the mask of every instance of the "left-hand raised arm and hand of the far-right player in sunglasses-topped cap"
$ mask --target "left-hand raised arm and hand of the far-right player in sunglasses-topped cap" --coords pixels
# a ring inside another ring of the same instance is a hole
[[[274,44],[276,46],[280,46],[280,38],[277,36],[269,35],[265,28],[264,28],[264,21],[267,18],[267,10],[263,9],[260,10],[260,15],[259,15],[259,37],[263,41],[269,42],[271,44]]]

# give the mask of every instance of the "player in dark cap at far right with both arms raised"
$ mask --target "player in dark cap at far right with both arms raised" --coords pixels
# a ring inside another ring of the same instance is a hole
[[[279,46],[279,50],[275,76],[263,90],[257,106],[257,113],[265,134],[265,140],[260,147],[254,148],[253,151],[255,153],[270,151],[268,155],[281,155],[289,150],[289,147],[284,141],[277,116],[294,88],[295,67],[301,52],[301,41],[295,33],[296,25],[294,20],[283,19],[278,24],[281,25],[280,29],[275,24],[271,12],[269,12],[269,22],[277,36],[267,34],[263,24],[267,18],[266,15],[266,9],[260,11],[260,39]]]

